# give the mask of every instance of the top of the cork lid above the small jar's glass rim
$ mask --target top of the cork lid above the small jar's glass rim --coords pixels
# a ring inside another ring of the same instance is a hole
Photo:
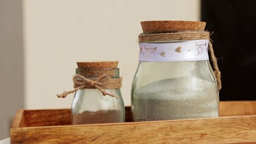
[[[107,69],[117,68],[118,61],[88,61],[88,62],[77,62],[78,68],[88,69]]]

